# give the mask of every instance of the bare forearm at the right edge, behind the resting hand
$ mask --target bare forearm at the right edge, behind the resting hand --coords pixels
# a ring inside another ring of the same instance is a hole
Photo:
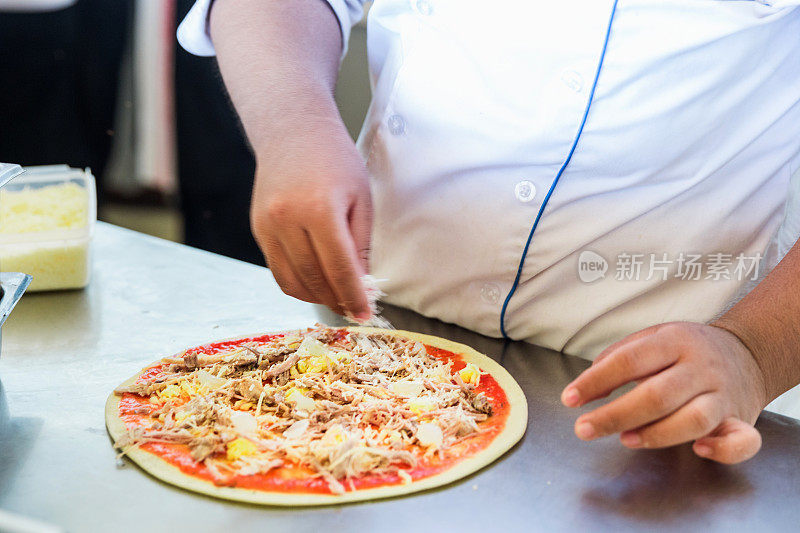
[[[750,349],[769,399],[800,383],[800,246],[713,325]]]

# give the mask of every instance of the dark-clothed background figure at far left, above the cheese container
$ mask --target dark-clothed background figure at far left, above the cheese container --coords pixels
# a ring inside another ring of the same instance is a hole
[[[66,163],[103,175],[129,7],[128,0],[0,0],[0,161]]]

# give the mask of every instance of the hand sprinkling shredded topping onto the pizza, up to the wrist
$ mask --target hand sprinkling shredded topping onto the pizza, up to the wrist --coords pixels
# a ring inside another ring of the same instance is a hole
[[[372,203],[364,161],[340,121],[319,117],[256,150],[250,221],[283,292],[370,317]]]

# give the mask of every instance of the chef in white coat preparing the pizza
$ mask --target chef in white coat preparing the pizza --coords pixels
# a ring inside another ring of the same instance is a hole
[[[283,290],[366,318],[369,272],[594,359],[567,406],[637,383],[581,439],[753,456],[800,382],[800,248],[765,261],[800,168],[800,2],[377,0],[356,147],[333,89],[365,3],[199,0],[178,31],[217,55]]]

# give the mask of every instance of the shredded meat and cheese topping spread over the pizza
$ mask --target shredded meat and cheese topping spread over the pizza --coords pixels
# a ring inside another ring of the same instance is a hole
[[[149,398],[147,422],[115,446],[189,446],[215,480],[302,466],[341,494],[349,478],[396,474],[444,458],[492,414],[481,371],[400,337],[322,325],[213,355],[191,350],[117,394]]]

